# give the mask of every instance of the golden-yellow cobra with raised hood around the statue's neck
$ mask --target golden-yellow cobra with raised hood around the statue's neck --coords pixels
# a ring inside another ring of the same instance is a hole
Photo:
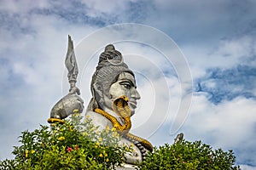
[[[116,117],[108,114],[106,111],[102,111],[98,108],[96,108],[94,111],[102,116],[105,116],[110,122],[112,122],[113,128],[116,129],[122,137],[137,145],[139,150],[142,152],[143,159],[146,156],[147,150],[153,150],[153,145],[150,144],[148,140],[129,133],[131,129],[131,110],[128,106],[128,98],[126,96],[121,96],[113,101],[113,111],[125,122],[124,125],[121,125]]]

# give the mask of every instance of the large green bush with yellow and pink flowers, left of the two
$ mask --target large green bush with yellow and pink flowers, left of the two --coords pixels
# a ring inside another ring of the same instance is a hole
[[[98,131],[89,119],[73,115],[63,125],[24,131],[14,160],[0,161],[0,169],[114,169],[130,148],[119,146],[119,134],[108,127]]]

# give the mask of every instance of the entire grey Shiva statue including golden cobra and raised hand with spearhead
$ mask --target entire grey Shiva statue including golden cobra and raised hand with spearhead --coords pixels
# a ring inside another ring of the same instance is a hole
[[[71,37],[68,37],[65,63],[70,83],[69,93],[52,108],[49,123],[64,122],[63,119],[73,114],[74,110],[81,113],[84,109],[84,101],[79,97],[80,91],[75,85],[79,70]],[[90,91],[92,97],[85,116],[90,117],[99,130],[107,127],[115,129],[121,136],[119,143],[133,147],[133,152],[125,155],[125,165],[120,169],[134,169],[134,165],[141,163],[147,152],[153,150],[153,146],[148,140],[130,133],[131,116],[135,114],[137,99],[141,96],[137,92],[134,72],[125,64],[122,54],[113,44],[106,46],[100,54]]]

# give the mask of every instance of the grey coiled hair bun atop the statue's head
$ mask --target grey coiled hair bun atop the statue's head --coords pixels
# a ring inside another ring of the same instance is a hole
[[[123,56],[118,50],[115,50],[113,44],[108,44],[105,47],[105,51],[100,55],[99,64],[102,63],[102,61],[119,64],[123,62]]]

